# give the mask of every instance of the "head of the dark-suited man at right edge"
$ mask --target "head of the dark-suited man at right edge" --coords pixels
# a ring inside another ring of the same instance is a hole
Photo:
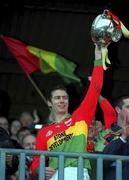
[[[122,126],[123,121],[129,123],[129,96],[123,96],[115,101],[115,109],[118,114],[118,125]]]

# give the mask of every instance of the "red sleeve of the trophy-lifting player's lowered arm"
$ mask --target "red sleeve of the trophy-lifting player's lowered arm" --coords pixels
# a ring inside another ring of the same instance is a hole
[[[37,138],[36,138],[36,150],[47,150],[47,143],[45,138],[43,138],[45,132],[43,130],[39,131]],[[34,156],[33,162],[31,165],[31,171],[34,176],[38,174],[38,167],[39,167],[39,156]]]

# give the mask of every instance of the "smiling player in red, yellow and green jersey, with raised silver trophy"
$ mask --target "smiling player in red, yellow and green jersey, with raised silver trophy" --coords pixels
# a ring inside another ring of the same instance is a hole
[[[95,116],[98,98],[103,85],[103,74],[107,68],[106,63],[110,64],[107,47],[111,41],[119,41],[121,35],[121,22],[108,10],[105,10],[102,15],[95,18],[91,27],[91,36],[95,44],[95,61],[87,94],[73,114],[67,116],[69,104],[67,92],[59,88],[51,91],[48,102],[51,105],[54,119],[58,119],[58,121],[54,121],[39,130],[36,140],[36,150],[86,152],[88,128]],[[65,94],[67,97],[67,108],[63,113],[58,111],[58,107],[66,103],[66,99],[62,99],[62,94]],[[60,98],[55,99],[55,97]],[[66,139],[66,136],[70,138]],[[89,160],[85,159],[83,180],[90,180],[90,171]],[[39,172],[38,156],[34,157],[32,172],[34,175],[37,175]],[[58,180],[58,160],[55,157],[49,158],[48,167],[46,167],[46,179]],[[65,158],[64,180],[77,180],[76,159]]]

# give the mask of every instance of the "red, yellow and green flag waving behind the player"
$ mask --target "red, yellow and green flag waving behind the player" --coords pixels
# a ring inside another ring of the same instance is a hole
[[[76,64],[63,56],[26,45],[11,37],[0,36],[0,38],[27,75],[37,70],[41,70],[44,74],[57,72],[67,83],[80,83],[80,78],[74,74]]]

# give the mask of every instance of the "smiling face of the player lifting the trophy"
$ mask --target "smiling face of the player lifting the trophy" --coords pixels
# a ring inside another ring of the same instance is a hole
[[[68,113],[69,98],[64,90],[55,90],[52,92],[51,101],[49,102],[51,110],[55,114]]]

